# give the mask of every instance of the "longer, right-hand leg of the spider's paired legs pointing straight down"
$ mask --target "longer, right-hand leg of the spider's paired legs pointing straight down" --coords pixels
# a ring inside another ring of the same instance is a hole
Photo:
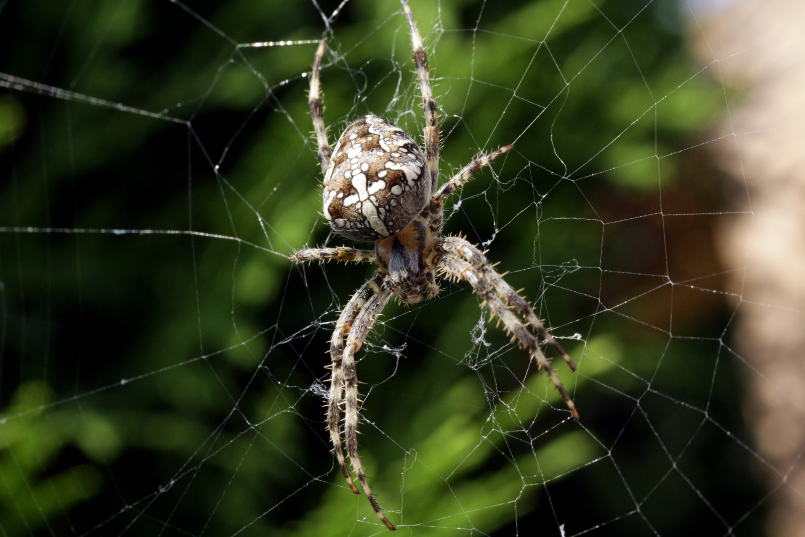
[[[386,516],[383,514],[378,501],[374,499],[372,489],[369,489],[369,483],[366,482],[366,476],[361,465],[361,458],[357,454],[357,425],[358,425],[358,393],[357,393],[357,372],[355,367],[355,353],[361,349],[361,345],[369,335],[369,331],[374,325],[374,321],[380,315],[383,308],[388,304],[391,298],[391,291],[384,285],[384,276],[375,275],[374,279],[369,280],[368,283],[361,289],[367,289],[372,292],[365,302],[361,310],[357,312],[357,316],[349,330],[349,337],[347,337],[346,345],[343,349],[343,364],[344,371],[344,386],[345,386],[345,410],[344,410],[344,437],[347,444],[347,454],[349,461],[352,461],[353,470],[361,481],[361,488],[363,489],[366,498],[369,498],[369,503],[372,504],[374,512],[382,520],[386,527],[390,530],[396,529],[394,524],[390,523]]]

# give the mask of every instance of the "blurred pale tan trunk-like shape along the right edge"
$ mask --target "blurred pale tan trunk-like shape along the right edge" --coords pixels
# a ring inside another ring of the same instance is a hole
[[[731,209],[746,212],[725,217],[717,239],[734,293],[734,358],[746,365],[745,415],[772,491],[768,535],[799,537],[805,536],[805,2],[712,2],[719,3],[696,14],[691,42],[728,95],[733,90],[729,115],[713,135],[724,138],[710,145],[731,178]]]

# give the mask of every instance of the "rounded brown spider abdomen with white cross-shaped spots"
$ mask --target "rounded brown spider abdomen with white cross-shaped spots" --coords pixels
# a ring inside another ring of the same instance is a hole
[[[324,173],[324,217],[356,241],[378,241],[406,228],[431,196],[425,155],[402,129],[364,116],[341,134]]]

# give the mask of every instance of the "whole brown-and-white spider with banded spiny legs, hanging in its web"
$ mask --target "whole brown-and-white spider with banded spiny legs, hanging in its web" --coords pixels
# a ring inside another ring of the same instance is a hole
[[[332,376],[328,396],[327,428],[341,473],[355,494],[358,492],[345,460],[345,447],[364,494],[386,527],[394,525],[374,498],[357,454],[357,426],[360,399],[357,391],[355,354],[369,335],[374,321],[389,299],[415,304],[423,295],[439,294],[436,275],[468,281],[491,310],[502,320],[512,340],[534,357],[562,394],[574,418],[576,407],[559,382],[540,349],[535,333],[543,337],[575,371],[573,361],[543,326],[530,305],[504,279],[475,246],[460,237],[443,236],[444,200],[466,183],[474,173],[510,151],[505,146],[473,160],[440,188],[439,120],[433,99],[427,56],[414,15],[406,0],[400,0],[411,32],[414,63],[425,110],[424,152],[414,138],[398,126],[367,115],[347,126],[331,148],[322,117],[319,72],[325,40],[319,43],[313,60],[308,104],[316,132],[319,162],[324,173],[324,217],[332,230],[354,241],[374,242],[373,250],[347,246],[297,250],[291,262],[335,259],[370,262],[378,271],[349,299],[330,340]],[[522,320],[518,318],[522,317]],[[343,440],[341,408],[344,408]]]

